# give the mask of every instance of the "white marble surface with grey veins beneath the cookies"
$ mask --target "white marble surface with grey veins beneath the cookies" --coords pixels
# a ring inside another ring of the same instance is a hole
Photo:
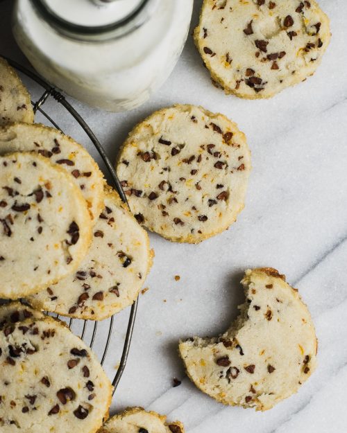
[[[25,64],[10,33],[11,3],[0,3],[0,53]],[[191,35],[169,80],[139,109],[112,114],[72,100],[112,160],[135,123],[172,103],[226,114],[246,133],[253,156],[246,207],[228,231],[200,245],[175,245],[151,234],[155,260],[145,284],[149,291],[139,299],[113,412],[142,405],[180,419],[187,433],[347,431],[347,3],[320,3],[332,26],[321,67],[271,100],[241,100],[214,88]],[[192,28],[200,4],[195,2]],[[39,89],[26,83],[37,96]],[[95,155],[62,109],[50,102],[45,107]],[[299,289],[319,338],[316,373],[298,394],[264,413],[224,407],[202,394],[185,377],[177,353],[178,339],[217,335],[228,327],[243,301],[244,269],[259,266],[276,267]],[[115,319],[106,358],[110,375],[119,362],[128,312]],[[108,322],[99,325],[99,353],[107,329]],[[173,388],[174,377],[182,385]]]

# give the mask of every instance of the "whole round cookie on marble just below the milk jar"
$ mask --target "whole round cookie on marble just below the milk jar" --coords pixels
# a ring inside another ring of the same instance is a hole
[[[191,243],[236,220],[250,170],[237,125],[193,105],[162,109],[137,125],[117,165],[137,221],[164,238]]]

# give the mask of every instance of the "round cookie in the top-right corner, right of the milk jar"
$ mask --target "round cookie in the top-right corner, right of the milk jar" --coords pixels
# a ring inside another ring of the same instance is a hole
[[[204,0],[194,39],[226,94],[271,98],[312,76],[330,25],[314,0]]]

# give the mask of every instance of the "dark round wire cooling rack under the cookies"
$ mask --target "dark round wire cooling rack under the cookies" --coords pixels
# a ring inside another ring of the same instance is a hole
[[[75,121],[82,127],[82,129],[85,131],[87,136],[89,137],[90,141],[92,141],[94,147],[99,152],[101,158],[103,159],[103,162],[105,163],[105,166],[110,174],[110,183],[112,186],[116,189],[117,193],[119,193],[121,200],[123,200],[124,203],[128,204],[126,200],[126,195],[124,194],[123,188],[121,188],[121,184],[119,182],[119,179],[117,177],[117,174],[115,172],[115,168],[113,168],[112,164],[110,163],[110,160],[108,159],[107,154],[105,153],[105,150],[103,149],[103,146],[101,145],[100,141],[96,138],[90,127],[87,125],[87,123],[83,120],[80,114],[76,112],[76,109],[72,107],[67,100],[65,99],[65,96],[60,93],[57,89],[54,87],[51,87],[46,81],[42,80],[39,76],[37,76],[35,73],[30,71],[29,69],[26,69],[21,64],[18,64],[14,60],[11,60],[9,58],[6,58],[5,56],[2,56],[4,59],[7,60],[7,62],[17,69],[17,71],[23,73],[28,78],[31,78],[31,80],[35,81],[40,87],[44,89],[42,95],[37,100],[32,100],[31,103],[33,105],[33,111],[36,114],[37,112],[40,112],[54,127],[56,127],[58,130],[62,132],[56,121],[47,114],[44,109],[42,109],[42,105],[48,100],[49,98],[53,98],[56,100],[57,103],[65,107],[67,112],[71,114],[71,116],[75,119]],[[117,367],[117,373],[115,374],[115,377],[112,380],[113,385],[113,392],[117,389],[117,386],[119,384],[119,380],[121,380],[121,375],[124,372],[124,369],[126,367],[126,360],[128,358],[128,353],[130,349],[131,344],[131,338],[133,335],[133,328],[135,324],[135,317],[137,312],[137,302],[138,299],[133,303],[133,306],[130,308],[130,315],[128,319],[128,326],[126,330],[126,335],[124,337],[124,346],[123,350],[121,352],[121,360],[119,362],[119,366]],[[74,322],[76,325],[76,322],[79,322],[79,326],[77,328],[81,329],[80,337],[83,339],[86,344],[87,340],[89,341],[89,346],[92,348],[94,346],[94,342],[96,341],[96,338],[99,339],[99,335],[97,335],[98,330],[98,321],[87,321],[87,320],[78,320],[78,319],[67,319],[66,317],[60,317],[60,315],[54,315],[54,317],[58,319],[62,319],[67,321],[67,324],[69,328],[71,329],[74,326]],[[108,348],[110,347],[111,343],[111,337],[112,337],[112,329],[115,321],[115,316],[110,317],[110,319],[107,319],[109,321],[109,327],[108,332],[106,334],[105,344],[103,346],[103,352],[101,355],[101,365],[104,364],[106,355],[108,353]],[[104,322],[104,321],[103,321]],[[88,332],[88,324],[92,323],[92,330]],[[75,328],[76,326],[74,326]]]

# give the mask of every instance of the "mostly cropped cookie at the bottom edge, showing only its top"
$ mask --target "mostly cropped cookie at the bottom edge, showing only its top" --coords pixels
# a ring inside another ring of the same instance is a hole
[[[112,416],[99,433],[185,433],[182,423],[166,423],[166,418],[142,407],[132,407]]]

